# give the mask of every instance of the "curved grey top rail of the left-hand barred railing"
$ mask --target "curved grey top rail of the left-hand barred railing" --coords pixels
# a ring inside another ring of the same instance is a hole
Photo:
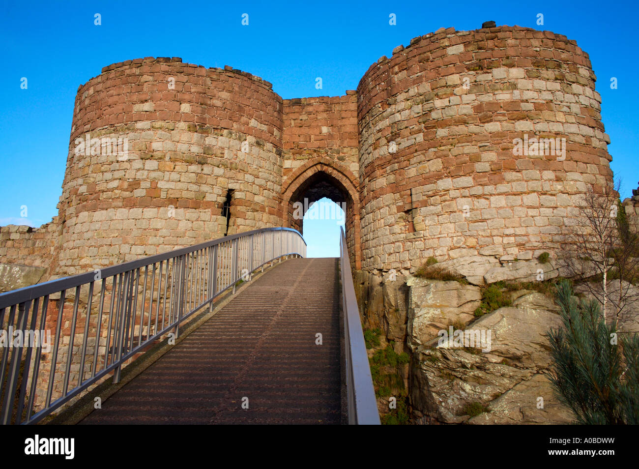
[[[206,241],[204,243],[199,243],[193,246],[181,247],[180,249],[162,252],[162,254],[154,254],[153,256],[146,256],[144,258],[135,259],[133,261],[103,267],[100,268],[100,276],[103,278],[111,277],[112,275],[118,275],[119,273],[128,272],[129,270],[134,270],[136,268],[144,267],[146,265],[150,265],[160,261],[166,261],[178,256],[183,256],[184,254],[190,254],[191,252],[195,252],[197,250],[231,241],[235,238],[242,238],[243,236],[261,233],[263,231],[295,231],[295,233],[300,235],[300,238],[302,238],[304,244],[306,244],[304,236],[302,236],[299,231],[293,228],[273,227],[254,229],[252,231],[245,231],[243,233],[224,236],[224,238],[219,238],[217,240]],[[88,284],[89,282],[93,282],[95,280],[94,277],[95,270],[93,272],[79,273],[77,275],[71,275],[70,277],[63,277],[61,279],[42,282],[28,287],[8,291],[6,293],[0,293],[0,309],[29,300],[34,300],[35,298],[40,298],[45,295],[52,295],[53,293],[58,293],[59,291],[65,289],[75,288],[77,286]]]

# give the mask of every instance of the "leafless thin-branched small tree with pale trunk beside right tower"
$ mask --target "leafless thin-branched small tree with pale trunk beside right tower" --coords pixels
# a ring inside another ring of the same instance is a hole
[[[567,277],[583,281],[590,295],[603,305],[606,323],[617,326],[622,313],[639,301],[639,234],[626,220],[617,190],[589,187],[579,215],[567,234]],[[610,282],[619,279],[613,288]]]

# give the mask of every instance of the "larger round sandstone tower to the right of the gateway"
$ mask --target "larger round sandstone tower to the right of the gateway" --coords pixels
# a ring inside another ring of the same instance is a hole
[[[576,197],[612,179],[594,81],[574,41],[521,27],[442,28],[373,64],[357,89],[364,269],[554,252]],[[514,155],[525,134],[566,138],[565,160]]]

